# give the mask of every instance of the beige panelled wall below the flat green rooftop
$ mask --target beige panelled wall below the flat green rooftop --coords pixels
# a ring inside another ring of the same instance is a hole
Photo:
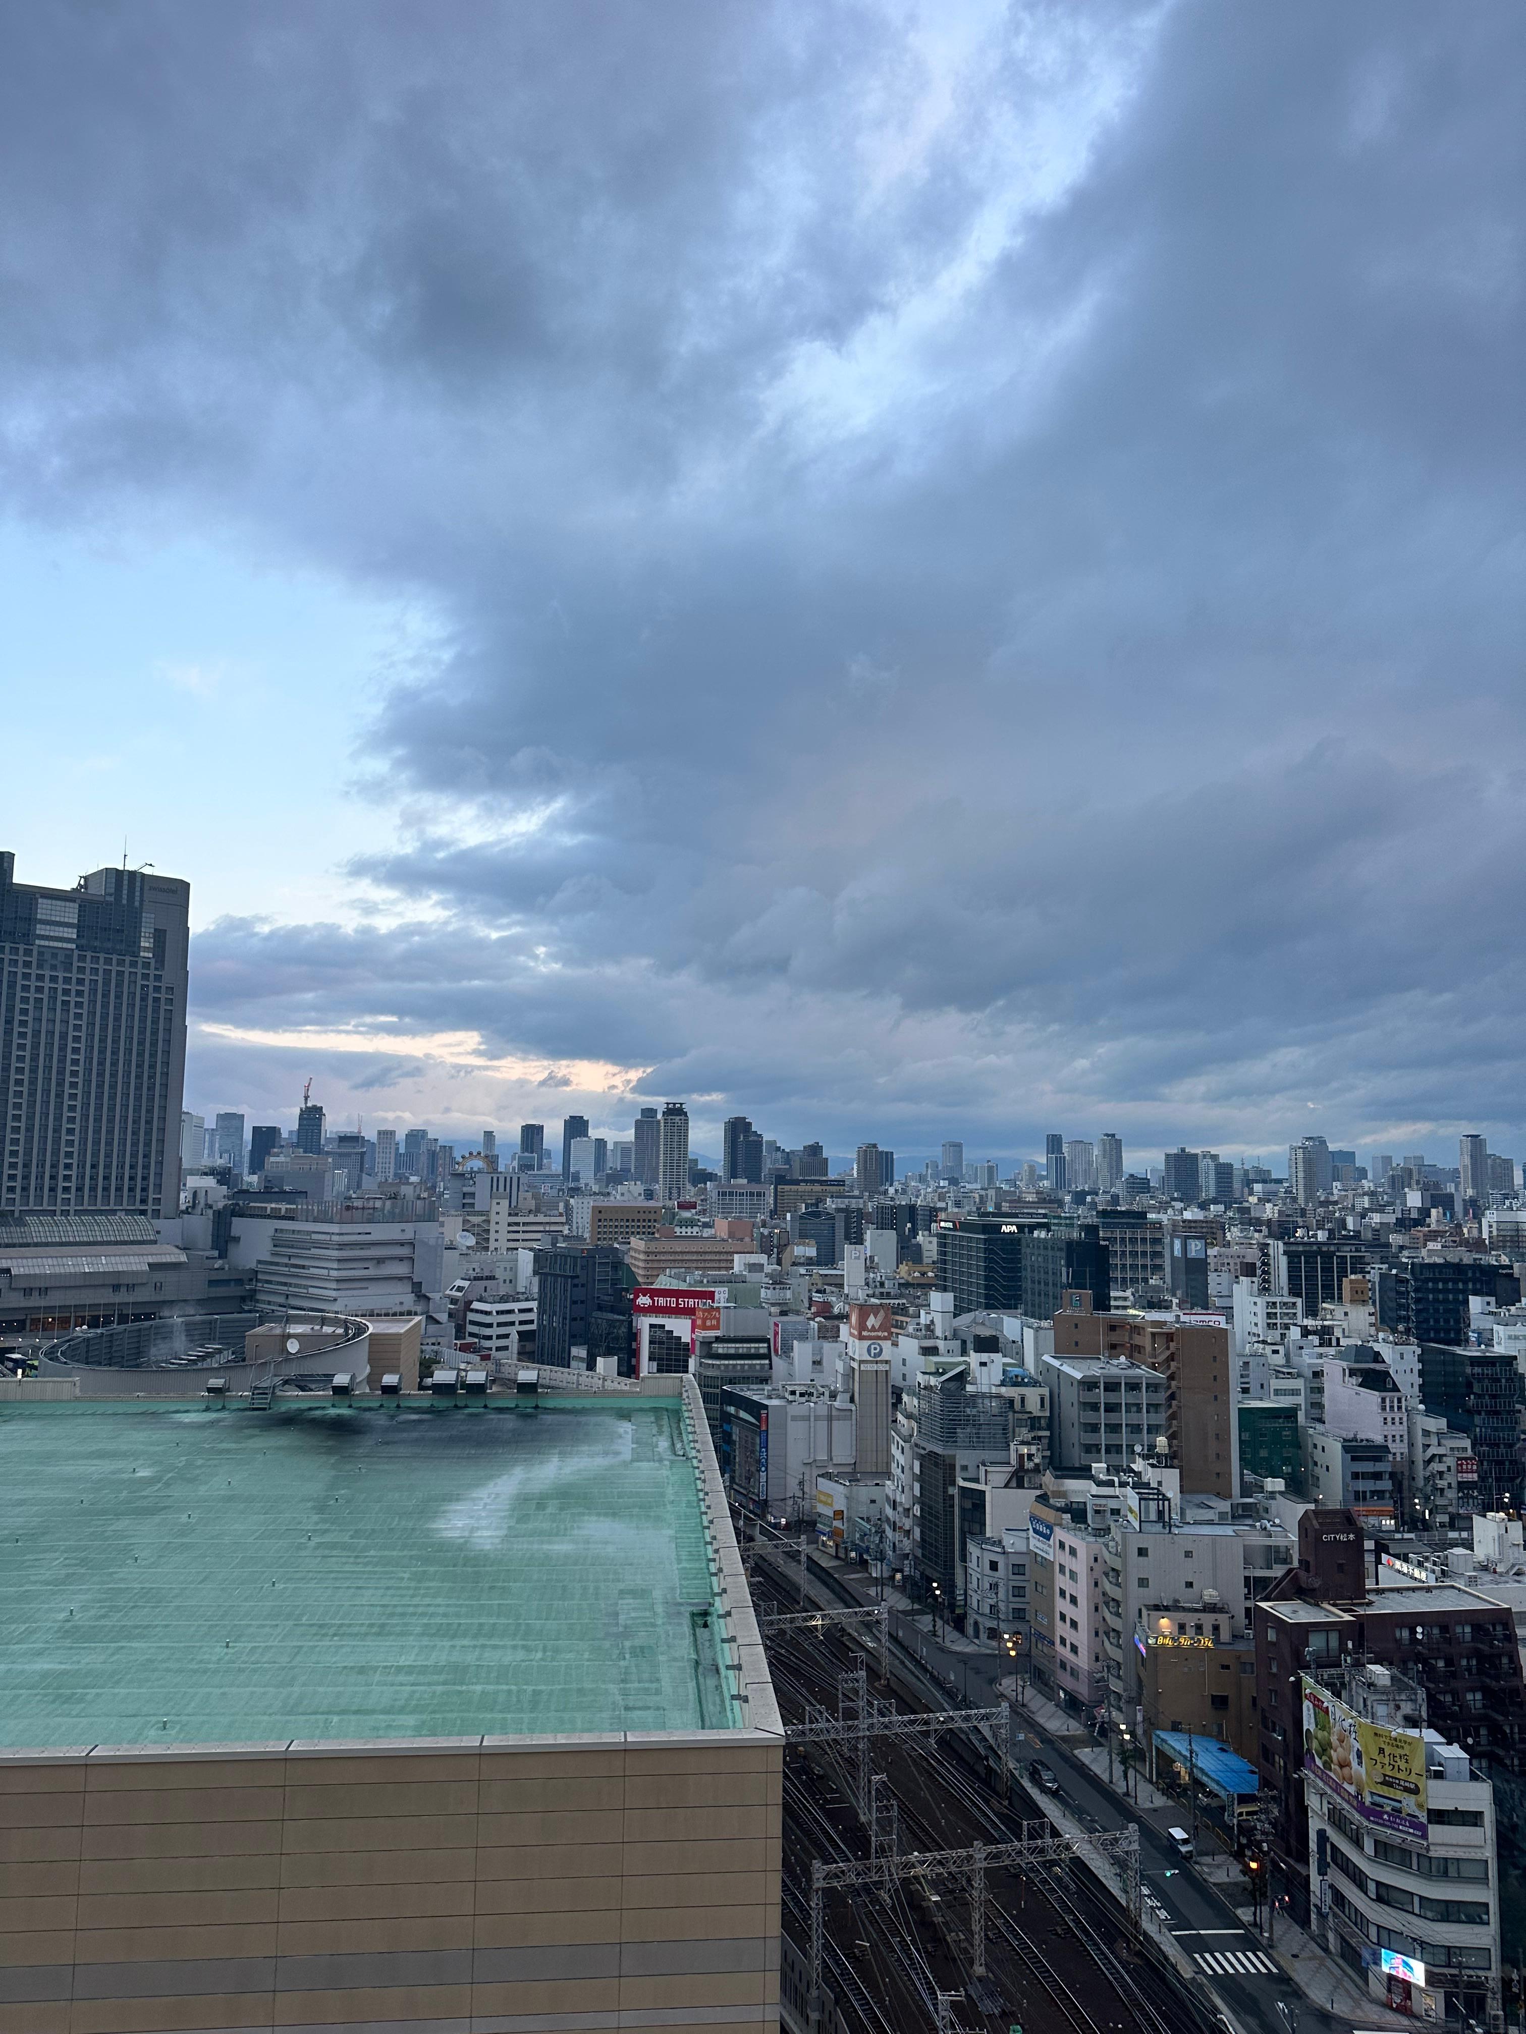
[[[765,1733],[0,1753],[0,2034],[773,2034]]]

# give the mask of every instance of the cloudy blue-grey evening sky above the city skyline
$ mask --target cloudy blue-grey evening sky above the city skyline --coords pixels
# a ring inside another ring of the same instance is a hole
[[[12,6],[0,844],[187,1104],[1526,1149],[1526,12]]]

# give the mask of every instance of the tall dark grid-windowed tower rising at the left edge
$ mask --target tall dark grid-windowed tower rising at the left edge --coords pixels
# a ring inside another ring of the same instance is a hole
[[[171,1218],[191,887],[98,869],[61,891],[14,871],[2,852],[0,1212]]]

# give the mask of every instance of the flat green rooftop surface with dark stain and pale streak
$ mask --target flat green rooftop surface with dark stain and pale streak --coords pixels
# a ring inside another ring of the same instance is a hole
[[[694,1731],[673,1401],[0,1408],[0,1745]]]

